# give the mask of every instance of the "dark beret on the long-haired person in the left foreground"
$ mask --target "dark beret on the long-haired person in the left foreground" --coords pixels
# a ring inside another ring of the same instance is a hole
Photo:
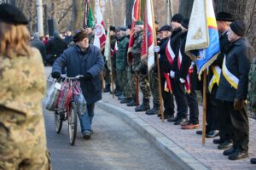
[[[7,3],[0,4],[0,20],[13,25],[27,25],[28,20],[19,8]]]

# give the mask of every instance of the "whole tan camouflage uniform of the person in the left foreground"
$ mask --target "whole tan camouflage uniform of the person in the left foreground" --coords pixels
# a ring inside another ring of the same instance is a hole
[[[44,116],[44,65],[32,55],[0,56],[0,169],[50,169]]]

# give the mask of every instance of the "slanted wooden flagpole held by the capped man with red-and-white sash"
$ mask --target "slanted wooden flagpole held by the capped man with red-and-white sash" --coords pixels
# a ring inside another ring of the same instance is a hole
[[[152,18],[153,18],[154,44],[157,44],[155,24],[154,24],[154,8],[153,8],[152,0],[150,0],[150,6],[151,6]],[[159,92],[159,97],[160,97],[160,114],[161,114],[161,121],[164,122],[164,111],[163,111],[163,100],[162,100],[163,97],[162,97],[161,80],[160,80],[159,54],[156,54],[156,65],[157,65],[157,77],[158,77],[158,92]]]

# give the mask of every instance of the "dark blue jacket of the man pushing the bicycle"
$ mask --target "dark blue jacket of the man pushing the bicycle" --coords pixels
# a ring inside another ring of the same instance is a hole
[[[101,71],[104,65],[101,50],[90,45],[86,52],[82,52],[79,46],[67,48],[61,56],[55,60],[52,72],[61,72],[62,67],[67,67],[67,77],[76,77],[88,72],[93,79],[81,80],[81,88],[88,104],[96,103],[102,99]]]

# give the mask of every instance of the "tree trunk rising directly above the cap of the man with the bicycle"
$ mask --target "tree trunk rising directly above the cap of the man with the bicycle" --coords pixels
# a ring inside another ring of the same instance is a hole
[[[69,28],[71,31],[75,31],[82,26],[82,0],[73,0],[73,14]]]

